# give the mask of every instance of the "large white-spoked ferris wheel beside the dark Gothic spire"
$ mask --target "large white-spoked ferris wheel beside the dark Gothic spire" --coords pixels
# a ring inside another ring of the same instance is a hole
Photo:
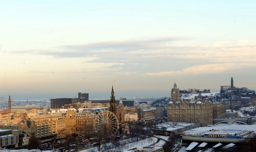
[[[101,111],[94,119],[94,131],[114,135],[118,131],[118,119],[110,111]]]

